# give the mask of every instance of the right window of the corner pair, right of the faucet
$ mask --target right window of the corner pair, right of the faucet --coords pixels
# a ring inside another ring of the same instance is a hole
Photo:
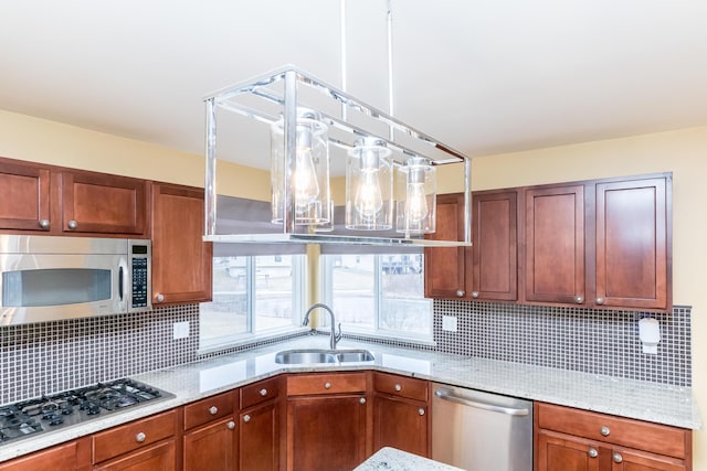
[[[422,254],[323,256],[324,291],[344,331],[432,339]]]

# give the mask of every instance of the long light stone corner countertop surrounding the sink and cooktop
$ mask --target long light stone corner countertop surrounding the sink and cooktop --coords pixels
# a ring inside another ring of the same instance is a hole
[[[648,420],[683,428],[701,427],[692,388],[499,362],[437,352],[423,352],[342,340],[339,349],[368,349],[366,363],[282,365],[275,353],[289,349],[328,349],[328,336],[307,335],[245,352],[131,376],[175,394],[173,398],[43,432],[0,446],[0,461],[27,454],[135,419],[171,409],[284,372],[376,370],[447,383],[580,409]],[[109,378],[107,378],[109,379]]]

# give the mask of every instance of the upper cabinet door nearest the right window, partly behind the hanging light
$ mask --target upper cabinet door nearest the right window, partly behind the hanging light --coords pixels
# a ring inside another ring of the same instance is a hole
[[[437,196],[436,233],[430,238],[443,240],[464,239],[464,195]],[[425,298],[465,297],[464,247],[424,249]]]

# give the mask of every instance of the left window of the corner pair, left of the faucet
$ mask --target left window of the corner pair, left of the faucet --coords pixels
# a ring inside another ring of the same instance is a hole
[[[200,347],[299,327],[304,267],[304,255],[214,256],[213,301],[200,309]]]

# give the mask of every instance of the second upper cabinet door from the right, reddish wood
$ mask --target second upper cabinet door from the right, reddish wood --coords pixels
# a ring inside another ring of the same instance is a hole
[[[584,302],[584,186],[528,189],[525,298]]]

